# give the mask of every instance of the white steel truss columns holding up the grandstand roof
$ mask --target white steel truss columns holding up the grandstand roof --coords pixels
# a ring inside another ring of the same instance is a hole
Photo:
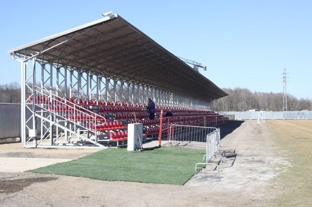
[[[77,98],[78,104],[81,104],[83,99],[87,100],[87,104],[89,100],[108,101],[114,104],[118,102],[145,104],[148,98],[152,98],[158,106],[209,109],[210,103],[175,93],[170,91],[170,88],[162,90],[127,82],[36,57],[14,55],[14,58],[21,64],[21,136],[24,147],[83,148],[90,145],[90,143],[70,144],[70,139],[77,135],[81,137],[81,132],[74,129],[73,123],[69,121],[55,120],[55,114],[43,110],[44,103],[36,105],[35,87],[42,91],[50,91],[56,97]],[[31,114],[27,120],[26,114]],[[61,137],[64,138],[64,143],[56,145],[55,140]],[[103,146],[93,144],[92,147]]]

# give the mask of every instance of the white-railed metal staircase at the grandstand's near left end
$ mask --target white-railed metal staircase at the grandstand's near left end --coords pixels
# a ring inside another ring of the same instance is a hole
[[[36,120],[41,121],[36,147],[107,148],[100,142],[109,137],[97,130],[105,124],[105,117],[88,105],[69,100],[53,94],[52,90],[35,86],[34,96],[31,95],[28,101],[35,107]]]

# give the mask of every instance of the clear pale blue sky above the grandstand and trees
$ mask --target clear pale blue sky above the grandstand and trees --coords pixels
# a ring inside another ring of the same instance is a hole
[[[312,0],[2,0],[0,85],[20,83],[10,49],[112,11],[220,88],[312,99]]]

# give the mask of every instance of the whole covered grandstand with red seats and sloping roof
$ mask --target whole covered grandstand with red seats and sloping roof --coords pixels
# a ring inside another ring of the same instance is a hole
[[[129,123],[142,123],[150,140],[173,123],[228,121],[210,110],[227,93],[117,14],[9,54],[21,64],[24,147],[118,147],[127,144]],[[146,112],[150,97],[155,120]],[[174,116],[162,118],[168,110]]]

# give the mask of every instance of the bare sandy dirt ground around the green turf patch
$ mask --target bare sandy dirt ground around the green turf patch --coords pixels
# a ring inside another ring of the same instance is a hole
[[[311,123],[308,124],[311,126]],[[275,143],[269,124],[250,120],[221,126],[221,149],[228,153],[219,164],[219,172],[209,165],[183,186],[0,172],[0,206],[272,206],[270,200],[280,196],[283,190],[282,185],[277,186],[272,179],[288,171],[292,163],[283,148]],[[96,151],[24,149],[21,143],[0,144],[0,158],[76,159]]]

